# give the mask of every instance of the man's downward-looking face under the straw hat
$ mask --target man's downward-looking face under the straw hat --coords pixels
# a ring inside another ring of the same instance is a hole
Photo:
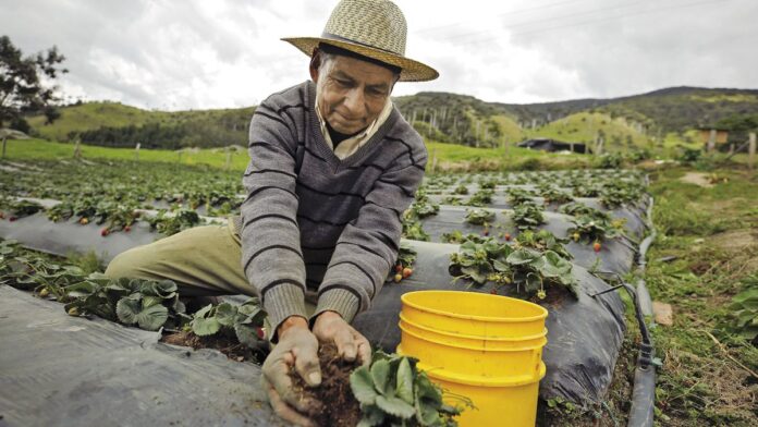
[[[334,56],[332,61],[325,75],[311,69],[317,84],[325,78],[318,105],[334,131],[352,135],[377,120],[392,91],[394,74],[355,58]]]

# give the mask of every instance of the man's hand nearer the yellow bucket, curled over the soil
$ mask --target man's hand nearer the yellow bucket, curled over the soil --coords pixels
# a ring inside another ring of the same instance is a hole
[[[366,337],[353,329],[337,312],[323,312],[314,322],[314,334],[322,343],[333,343],[345,361],[358,358],[362,365],[371,363],[371,345]]]

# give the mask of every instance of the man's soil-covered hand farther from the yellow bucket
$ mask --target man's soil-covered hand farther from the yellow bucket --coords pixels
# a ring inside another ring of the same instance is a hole
[[[305,318],[296,316],[282,322],[278,335],[279,343],[264,362],[262,387],[277,415],[295,425],[310,427],[314,423],[303,414],[318,412],[321,402],[307,399],[293,389],[290,369],[294,366],[309,387],[321,383],[318,340],[308,330]]]

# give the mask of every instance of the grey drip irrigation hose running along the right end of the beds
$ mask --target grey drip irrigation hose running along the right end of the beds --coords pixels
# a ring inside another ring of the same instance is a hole
[[[637,270],[639,272],[645,271],[645,267],[647,265],[647,251],[652,244],[652,241],[656,239],[657,234],[656,228],[652,223],[652,204],[653,198],[650,197],[650,204],[648,205],[647,210],[647,222],[648,228],[651,231],[650,234],[639,244],[639,257],[637,258]],[[590,296],[596,297],[621,288],[625,289],[634,303],[634,313],[639,325],[639,332],[641,334],[641,343],[639,345],[639,353],[637,355],[637,367],[634,371],[632,407],[629,410],[629,417],[626,425],[627,427],[652,427],[653,405],[656,403],[656,366],[653,365],[652,361],[656,355],[656,349],[652,343],[652,339],[650,338],[650,331],[645,322],[645,316],[652,315],[652,302],[650,298],[650,293],[648,292],[647,285],[645,284],[645,279],[643,278],[637,280],[637,289],[635,291],[635,289],[628,283],[624,282],[624,280],[618,273],[609,271],[598,272],[614,276],[619,284]]]

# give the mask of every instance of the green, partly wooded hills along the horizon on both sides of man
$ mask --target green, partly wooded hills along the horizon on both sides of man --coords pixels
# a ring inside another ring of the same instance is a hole
[[[698,143],[694,130],[758,127],[758,90],[671,87],[609,99],[541,103],[485,102],[468,95],[423,91],[394,98],[416,130],[431,141],[498,147],[531,137],[594,145],[609,150]],[[28,120],[33,134],[53,141],[145,148],[244,145],[254,107],[225,110],[147,111],[118,102],[61,108],[51,125]],[[741,136],[741,134],[738,134]],[[742,137],[742,136],[741,136]]]

